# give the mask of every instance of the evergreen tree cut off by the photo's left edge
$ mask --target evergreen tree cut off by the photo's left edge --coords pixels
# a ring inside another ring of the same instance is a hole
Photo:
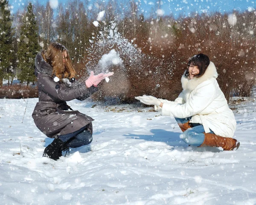
[[[0,87],[3,78],[13,74],[12,62],[15,54],[13,52],[13,29],[11,12],[8,0],[0,0]]]

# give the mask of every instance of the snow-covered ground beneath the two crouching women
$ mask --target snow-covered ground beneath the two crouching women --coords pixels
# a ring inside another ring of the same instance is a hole
[[[256,204],[255,96],[230,104],[237,151],[186,145],[152,108],[73,100],[95,119],[93,142],[58,161],[42,157],[52,140],[34,125],[37,101],[0,99],[0,204]]]

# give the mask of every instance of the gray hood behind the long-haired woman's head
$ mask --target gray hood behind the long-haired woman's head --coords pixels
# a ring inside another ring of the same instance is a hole
[[[35,76],[38,76],[38,73],[48,74],[52,76],[52,66],[49,65],[43,58],[42,51],[38,52],[35,57]]]

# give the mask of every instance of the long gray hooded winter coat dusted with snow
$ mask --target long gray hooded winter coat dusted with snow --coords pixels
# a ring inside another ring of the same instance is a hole
[[[35,57],[35,75],[38,78],[39,102],[32,117],[38,129],[51,138],[73,133],[83,127],[87,127],[92,134],[93,119],[79,111],[68,111],[72,109],[66,103],[73,99],[86,99],[94,92],[92,88],[88,89],[85,83],[75,80],[55,82],[52,66],[43,59],[41,52]]]

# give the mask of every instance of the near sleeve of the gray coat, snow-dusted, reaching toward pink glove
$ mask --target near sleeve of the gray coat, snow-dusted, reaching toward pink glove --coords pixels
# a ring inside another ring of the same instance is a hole
[[[89,94],[86,85],[83,83],[72,83],[72,86],[67,87],[63,83],[57,83],[52,77],[45,75],[38,78],[38,90],[43,91],[50,97],[63,101],[70,101],[76,98],[82,98],[84,100],[84,96]]]

